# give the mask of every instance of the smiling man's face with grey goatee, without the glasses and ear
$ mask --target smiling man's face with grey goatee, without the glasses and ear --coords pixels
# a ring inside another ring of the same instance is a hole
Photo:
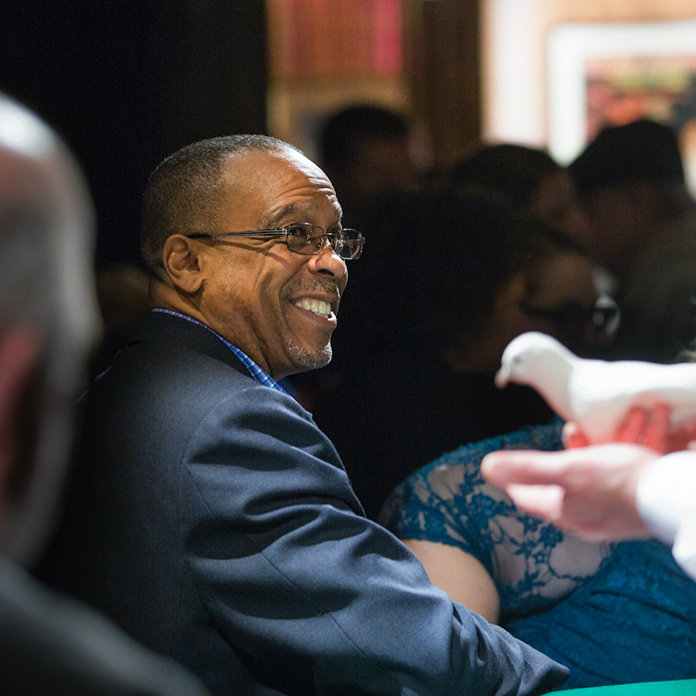
[[[340,228],[341,207],[326,175],[293,150],[251,151],[227,165],[223,229],[264,230],[309,222]],[[282,237],[205,242],[201,312],[208,325],[272,377],[331,360],[331,334],[346,286],[345,262],[325,245],[317,256],[290,251]]]

